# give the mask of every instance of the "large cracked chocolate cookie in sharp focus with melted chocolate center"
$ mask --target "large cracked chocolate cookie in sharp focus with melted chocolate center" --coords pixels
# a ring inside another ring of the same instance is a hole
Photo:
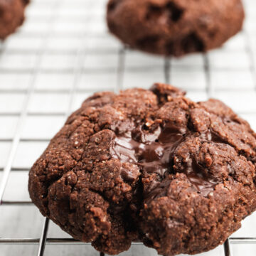
[[[256,134],[218,100],[171,85],[100,92],[70,115],[29,173],[41,213],[110,255],[222,244],[256,207]]]

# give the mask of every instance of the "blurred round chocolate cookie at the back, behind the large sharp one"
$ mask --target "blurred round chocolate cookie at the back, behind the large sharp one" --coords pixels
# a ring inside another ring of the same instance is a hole
[[[240,31],[243,19],[240,0],[110,0],[107,5],[115,36],[132,48],[161,55],[217,48]]]

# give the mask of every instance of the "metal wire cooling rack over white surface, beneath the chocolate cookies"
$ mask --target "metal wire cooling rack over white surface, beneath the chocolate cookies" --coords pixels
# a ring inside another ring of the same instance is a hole
[[[105,0],[33,0],[26,23],[0,45],[0,256],[98,255],[43,218],[28,171],[65,118],[92,92],[171,82],[193,100],[216,97],[256,129],[256,2],[223,48],[181,59],[124,48],[107,32]],[[232,10],[230,10],[232,11]],[[202,255],[256,255],[256,215]],[[122,255],[156,255],[137,244]]]

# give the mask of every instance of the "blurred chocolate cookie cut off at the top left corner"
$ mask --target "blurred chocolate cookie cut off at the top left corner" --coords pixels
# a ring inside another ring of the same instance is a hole
[[[0,0],[0,39],[16,31],[24,21],[27,0]]]

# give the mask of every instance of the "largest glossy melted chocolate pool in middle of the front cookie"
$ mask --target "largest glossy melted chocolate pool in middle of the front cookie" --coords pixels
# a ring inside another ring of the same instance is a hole
[[[112,148],[112,156],[122,162],[136,163],[144,171],[164,176],[170,169],[170,160],[176,146],[183,140],[183,134],[175,127],[166,126],[147,134],[142,128],[131,134],[117,135]]]

